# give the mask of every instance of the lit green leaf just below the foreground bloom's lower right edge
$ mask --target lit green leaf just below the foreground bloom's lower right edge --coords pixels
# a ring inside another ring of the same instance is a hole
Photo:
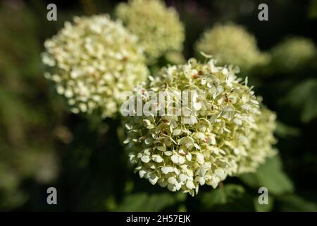
[[[261,165],[256,173],[242,174],[239,178],[254,189],[266,187],[269,194],[287,194],[294,190],[290,178],[285,172],[282,172],[282,163],[278,156],[268,159],[266,164]]]

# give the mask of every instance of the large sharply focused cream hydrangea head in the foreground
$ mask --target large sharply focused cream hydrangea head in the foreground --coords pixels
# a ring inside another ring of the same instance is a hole
[[[261,110],[247,80],[242,82],[236,72],[232,66],[216,66],[213,59],[206,64],[189,59],[149,77],[140,91],[142,102],[150,92],[165,91],[166,105],[154,102],[154,109],[169,106],[173,111],[127,119],[125,143],[139,177],[194,196],[199,185],[216,188],[228,175],[254,171],[273,153],[274,115]],[[175,114],[178,90],[200,93],[180,116]]]

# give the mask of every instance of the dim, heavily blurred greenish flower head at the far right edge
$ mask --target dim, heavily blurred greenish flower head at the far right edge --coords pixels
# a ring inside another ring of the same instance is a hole
[[[302,69],[316,56],[315,44],[304,37],[292,37],[273,47],[272,64],[275,69],[289,72]]]

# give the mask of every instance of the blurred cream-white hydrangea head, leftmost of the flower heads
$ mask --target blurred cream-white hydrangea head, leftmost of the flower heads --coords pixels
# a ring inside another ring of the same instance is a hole
[[[113,117],[120,93],[146,80],[148,69],[138,40],[109,16],[75,17],[46,40],[45,76],[68,99],[71,111],[88,114],[99,109]]]

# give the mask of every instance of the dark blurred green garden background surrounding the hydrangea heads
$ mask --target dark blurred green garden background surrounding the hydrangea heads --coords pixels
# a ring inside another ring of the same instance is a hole
[[[46,20],[49,3],[58,8],[57,21]],[[268,21],[257,18],[260,3],[268,4]],[[255,174],[228,178],[215,190],[202,187],[195,197],[151,186],[133,174],[120,145],[118,120],[69,112],[43,76],[44,40],[73,16],[112,15],[116,4],[0,1],[0,210],[316,211],[316,55],[300,69],[278,70],[279,65],[270,64],[250,74],[249,83],[278,115],[279,155]],[[185,23],[185,59],[194,56],[194,42],[206,28],[228,21],[254,34],[263,52],[293,36],[317,43],[316,0],[166,4]],[[287,54],[297,51],[300,47]],[[46,203],[49,186],[58,191],[58,205]],[[268,188],[269,205],[257,201],[260,186]]]

